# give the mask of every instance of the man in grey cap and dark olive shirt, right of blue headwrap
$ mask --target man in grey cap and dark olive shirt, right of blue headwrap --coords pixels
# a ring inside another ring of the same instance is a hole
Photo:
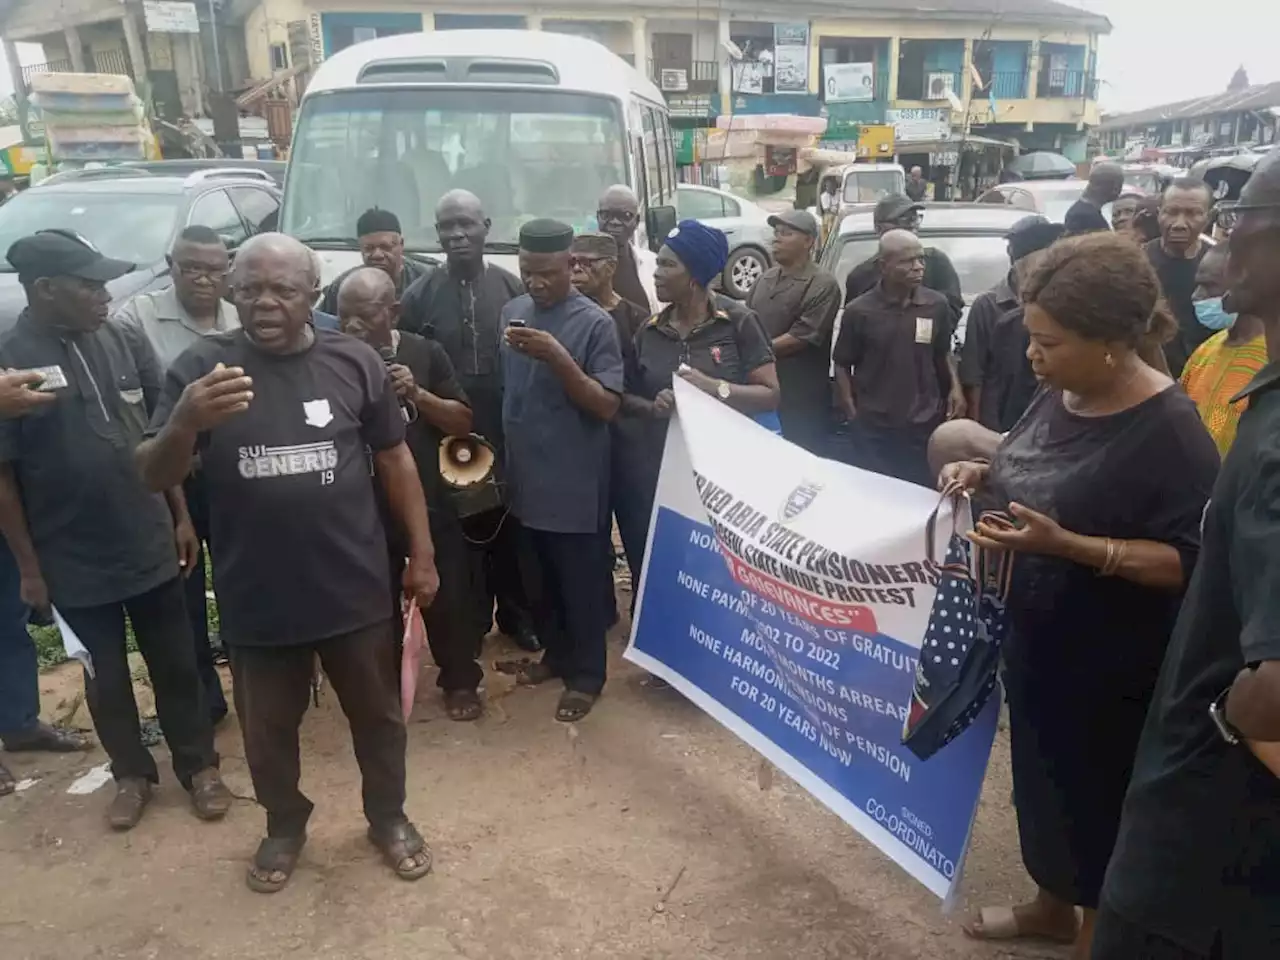
[[[840,284],[813,262],[818,220],[805,210],[769,218],[773,266],[755,282],[746,305],[773,340],[782,397],[782,435],[822,456],[831,426],[831,332],[840,312]]]

